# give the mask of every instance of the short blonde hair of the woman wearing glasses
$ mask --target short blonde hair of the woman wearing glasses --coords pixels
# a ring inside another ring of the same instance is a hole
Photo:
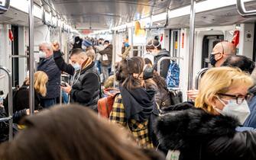
[[[217,67],[209,69],[199,84],[199,94],[196,98],[195,106],[214,113],[210,101],[218,93],[225,94],[231,86],[248,86],[254,84],[253,79],[241,69],[231,67]]]

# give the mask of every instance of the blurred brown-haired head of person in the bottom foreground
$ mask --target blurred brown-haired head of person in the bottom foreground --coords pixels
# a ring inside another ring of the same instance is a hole
[[[23,120],[26,128],[0,146],[5,160],[164,160],[134,145],[124,130],[77,104]]]

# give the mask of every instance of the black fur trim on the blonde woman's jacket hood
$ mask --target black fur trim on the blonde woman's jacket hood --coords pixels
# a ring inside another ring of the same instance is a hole
[[[155,124],[157,138],[166,149],[193,148],[219,136],[234,136],[239,125],[234,117],[212,115],[201,109],[173,111]]]

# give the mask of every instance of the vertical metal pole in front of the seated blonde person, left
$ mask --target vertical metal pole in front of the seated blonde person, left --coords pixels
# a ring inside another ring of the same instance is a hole
[[[34,0],[28,0],[29,22],[29,108],[31,115],[34,114]]]

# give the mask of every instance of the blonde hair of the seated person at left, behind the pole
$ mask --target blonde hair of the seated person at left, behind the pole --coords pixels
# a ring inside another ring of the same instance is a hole
[[[34,73],[34,89],[41,96],[45,97],[47,94],[46,84],[48,82],[48,76],[45,72],[37,71]]]

